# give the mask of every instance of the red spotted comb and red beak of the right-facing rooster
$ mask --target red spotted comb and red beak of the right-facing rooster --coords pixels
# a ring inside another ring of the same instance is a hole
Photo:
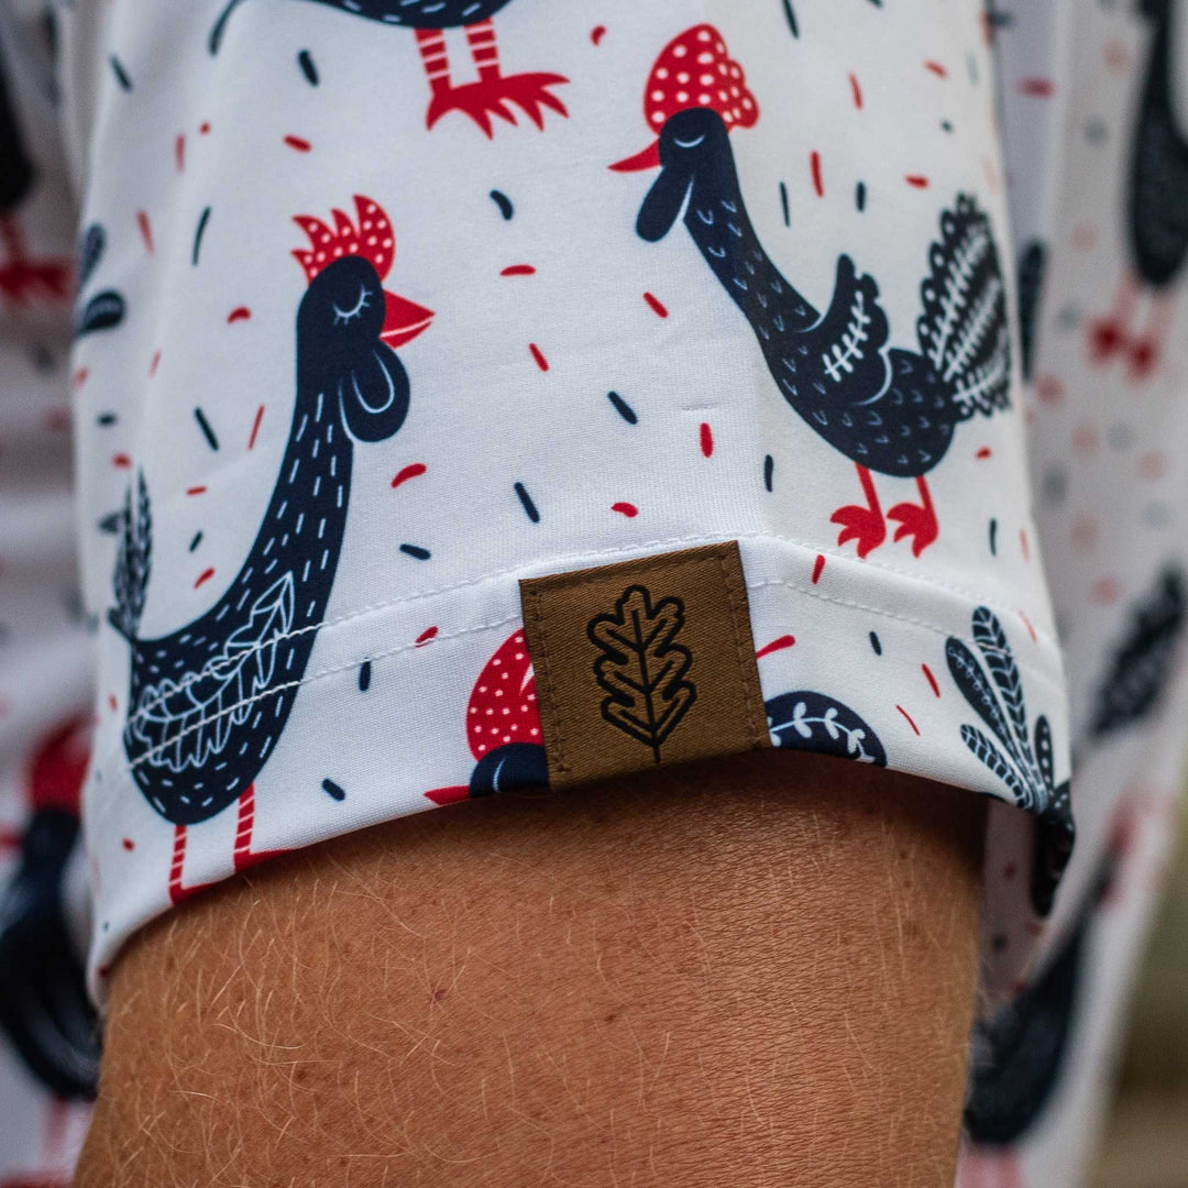
[[[330,217],[333,227],[311,215],[293,217],[310,241],[309,248],[293,251],[297,263],[305,270],[305,279],[312,282],[335,260],[354,255],[371,264],[383,280],[396,259],[396,233],[384,208],[356,194],[355,222],[337,209],[330,211]],[[432,320],[432,310],[384,290],[384,323],[379,336],[393,349],[411,342]]]

